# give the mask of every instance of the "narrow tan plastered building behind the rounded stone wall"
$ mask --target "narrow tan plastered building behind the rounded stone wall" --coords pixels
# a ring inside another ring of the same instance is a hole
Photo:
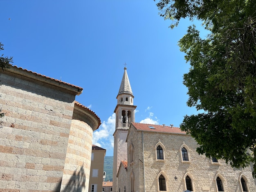
[[[89,192],[102,192],[104,157],[106,150],[92,145]]]

